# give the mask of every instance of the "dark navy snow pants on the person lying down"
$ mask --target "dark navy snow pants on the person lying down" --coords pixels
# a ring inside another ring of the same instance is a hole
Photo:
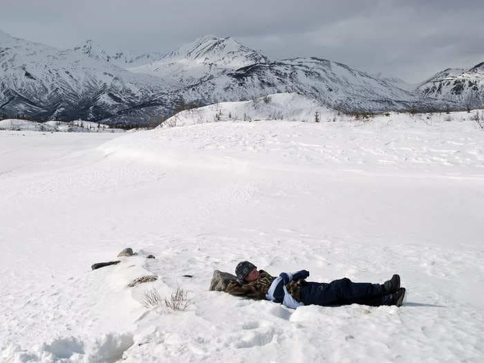
[[[321,306],[380,306],[389,304],[391,300],[391,295],[384,295],[379,283],[351,282],[346,277],[330,283],[306,282],[301,287],[300,297],[304,305]]]

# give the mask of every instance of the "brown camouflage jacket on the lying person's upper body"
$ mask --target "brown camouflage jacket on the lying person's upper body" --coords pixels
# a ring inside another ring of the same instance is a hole
[[[255,281],[243,283],[239,285],[237,281],[232,281],[227,285],[225,292],[230,295],[250,297],[252,299],[266,299],[267,292],[275,277],[270,276],[266,271],[259,270],[261,277]],[[304,280],[290,281],[286,285],[286,289],[294,299],[301,302],[301,283]]]

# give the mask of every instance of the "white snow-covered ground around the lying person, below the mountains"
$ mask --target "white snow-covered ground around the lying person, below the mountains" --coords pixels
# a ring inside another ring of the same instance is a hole
[[[0,190],[0,362],[484,361],[476,122],[0,131]],[[126,247],[140,254],[91,271]],[[311,281],[398,272],[407,301],[290,310],[209,292],[241,259]],[[177,286],[185,311],[140,304]]]

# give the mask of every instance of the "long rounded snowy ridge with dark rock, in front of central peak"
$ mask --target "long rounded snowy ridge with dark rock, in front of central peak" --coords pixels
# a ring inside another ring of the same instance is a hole
[[[342,111],[430,109],[433,100],[327,59],[308,57],[252,64],[176,92],[198,103],[250,100],[271,93],[300,93]]]

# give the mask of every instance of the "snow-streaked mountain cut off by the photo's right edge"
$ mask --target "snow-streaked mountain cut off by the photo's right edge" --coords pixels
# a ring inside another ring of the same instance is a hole
[[[484,104],[484,62],[470,69],[447,68],[416,89],[423,97],[451,100],[467,107]]]

